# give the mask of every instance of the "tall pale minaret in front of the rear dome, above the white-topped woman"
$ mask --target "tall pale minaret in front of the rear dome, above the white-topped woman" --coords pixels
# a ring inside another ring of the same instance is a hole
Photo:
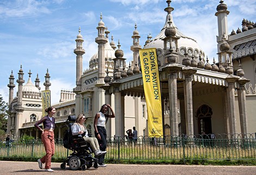
[[[105,84],[105,43],[108,42],[107,37],[105,37],[105,29],[104,22],[102,21],[102,13],[101,13],[101,21],[98,23],[98,37],[96,37],[95,42],[98,44],[98,79],[96,86],[102,86]]]

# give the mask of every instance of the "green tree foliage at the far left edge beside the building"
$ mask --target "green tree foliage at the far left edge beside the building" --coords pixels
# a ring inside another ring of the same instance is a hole
[[[0,140],[5,139],[8,114],[9,114],[8,103],[5,103],[2,95],[0,95]]]

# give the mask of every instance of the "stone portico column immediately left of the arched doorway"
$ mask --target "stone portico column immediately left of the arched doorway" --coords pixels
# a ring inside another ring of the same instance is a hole
[[[191,67],[184,67],[182,73],[185,76],[184,100],[186,117],[186,134],[193,135],[193,98],[192,98],[192,74],[196,73]]]

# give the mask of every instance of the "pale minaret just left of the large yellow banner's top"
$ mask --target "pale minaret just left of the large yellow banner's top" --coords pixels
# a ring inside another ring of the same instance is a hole
[[[138,62],[138,58],[139,58],[139,51],[141,49],[141,46],[140,46],[140,35],[139,35],[139,32],[137,30],[137,24],[135,23],[135,30],[133,31],[133,36],[132,36],[132,39],[133,39],[133,46],[130,46],[130,50],[133,51],[133,62],[136,63],[136,64],[139,64]]]

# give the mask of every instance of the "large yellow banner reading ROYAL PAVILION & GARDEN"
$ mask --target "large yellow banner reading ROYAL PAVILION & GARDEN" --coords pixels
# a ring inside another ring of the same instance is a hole
[[[148,136],[161,136],[163,135],[163,120],[157,49],[141,49],[140,62],[147,103]]]

